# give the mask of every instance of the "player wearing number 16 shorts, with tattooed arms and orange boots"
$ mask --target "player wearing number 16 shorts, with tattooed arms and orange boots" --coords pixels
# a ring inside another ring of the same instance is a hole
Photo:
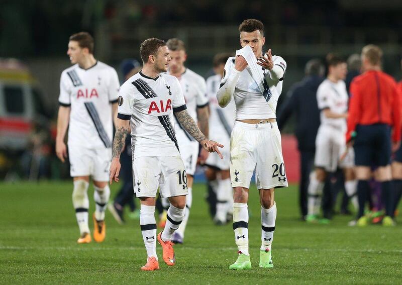
[[[175,264],[172,235],[184,217],[187,175],[174,133],[173,113],[181,126],[209,152],[223,145],[208,140],[187,112],[177,78],[163,72],[171,61],[169,49],[162,40],[145,40],[140,48],[143,69],[120,87],[119,109],[110,167],[110,182],[119,181],[119,157],[130,128],[133,149],[134,191],[140,199],[140,226],[147,250],[147,263],[142,270],[159,269],[156,239],[163,249],[167,265]],[[159,186],[162,198],[168,198],[167,221],[156,235],[155,197]]]

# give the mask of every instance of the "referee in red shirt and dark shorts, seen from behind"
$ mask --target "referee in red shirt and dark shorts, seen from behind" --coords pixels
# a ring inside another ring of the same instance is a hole
[[[382,202],[385,205],[384,226],[394,225],[391,152],[400,145],[400,99],[395,80],[381,71],[382,50],[375,45],[363,47],[363,74],[350,84],[348,130],[346,140],[353,141],[357,194],[359,200],[358,226],[367,225],[364,205],[369,195],[371,167],[377,166],[374,177],[381,182]],[[392,142],[391,142],[391,129]]]

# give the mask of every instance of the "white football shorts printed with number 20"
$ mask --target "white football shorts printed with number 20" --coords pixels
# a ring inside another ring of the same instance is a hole
[[[254,169],[257,189],[287,187],[277,123],[247,124],[236,121],[230,140],[232,187],[250,188]]]

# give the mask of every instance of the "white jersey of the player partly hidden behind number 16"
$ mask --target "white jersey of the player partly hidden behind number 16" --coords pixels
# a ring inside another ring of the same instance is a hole
[[[197,108],[208,105],[207,84],[205,79],[194,71],[186,68],[178,80],[183,90],[187,112],[194,119],[195,123],[197,123]],[[179,145],[189,141],[195,141],[195,139],[184,130],[177,119],[175,119],[175,121],[175,131]]]

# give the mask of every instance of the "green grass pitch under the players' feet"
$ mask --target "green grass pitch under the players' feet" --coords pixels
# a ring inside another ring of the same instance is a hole
[[[119,185],[112,188],[112,197]],[[92,188],[92,187],[90,187]],[[261,226],[258,194],[251,189],[250,254],[253,268],[228,269],[237,258],[232,225],[214,226],[205,186],[193,187],[185,244],[175,245],[176,265],[168,267],[157,244],[160,270],[143,272],[146,262],[139,221],[119,226],[107,212],[102,244],[76,244],[78,227],[71,182],[0,183],[1,283],[398,283],[402,277],[402,231],[368,226],[350,228],[351,217],[331,225],[298,220],[297,189],[278,189],[272,247],[274,268],[258,267]],[[92,230],[93,188],[89,190]],[[158,229],[158,232],[160,230]]]

